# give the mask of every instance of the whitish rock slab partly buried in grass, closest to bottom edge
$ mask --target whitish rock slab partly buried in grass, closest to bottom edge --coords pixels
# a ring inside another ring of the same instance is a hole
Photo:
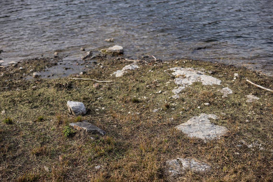
[[[210,165],[204,162],[198,162],[194,159],[177,158],[166,162],[166,174],[175,177],[191,170],[194,172],[206,172],[211,169]]]

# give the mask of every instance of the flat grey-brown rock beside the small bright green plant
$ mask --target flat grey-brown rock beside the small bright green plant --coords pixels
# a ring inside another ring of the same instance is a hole
[[[100,133],[102,135],[106,134],[104,130],[94,126],[91,123],[88,123],[86,120],[84,120],[83,122],[78,122],[78,123],[70,123],[69,125],[76,130],[84,130],[86,133]]]

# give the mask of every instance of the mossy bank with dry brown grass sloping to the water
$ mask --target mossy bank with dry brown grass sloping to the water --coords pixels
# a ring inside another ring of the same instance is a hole
[[[191,157],[212,167],[206,173],[187,171],[176,180],[273,180],[272,93],[246,82],[250,79],[272,89],[272,77],[190,60],[141,62],[137,70],[115,77],[111,76],[114,71],[130,63],[105,58],[79,76],[115,81],[99,83],[97,89],[90,80],[30,79],[31,68],[42,71],[56,61],[58,58],[29,60],[0,70],[4,73],[0,77],[0,111],[5,111],[0,124],[1,181],[168,181],[172,179],[164,173],[165,162],[176,157]],[[179,99],[173,99],[172,90],[177,85],[164,72],[172,73],[168,71],[172,67],[213,71],[206,74],[222,83],[210,86],[195,82],[179,94]],[[239,74],[235,80],[234,73]],[[218,90],[227,86],[233,94],[222,98]],[[248,94],[260,99],[247,103]],[[83,102],[87,114],[69,114],[68,100]],[[219,119],[212,122],[229,132],[205,143],[175,129],[201,113],[217,115]],[[4,123],[5,118],[12,124]],[[66,127],[79,120],[100,127],[106,135]],[[236,147],[238,144],[242,147]]]

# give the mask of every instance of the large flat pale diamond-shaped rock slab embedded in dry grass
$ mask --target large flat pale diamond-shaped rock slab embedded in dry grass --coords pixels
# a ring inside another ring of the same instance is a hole
[[[186,123],[176,126],[176,128],[189,137],[197,137],[205,142],[218,139],[227,132],[227,128],[211,123],[209,118],[217,119],[214,114],[202,113],[199,116],[192,117]]]

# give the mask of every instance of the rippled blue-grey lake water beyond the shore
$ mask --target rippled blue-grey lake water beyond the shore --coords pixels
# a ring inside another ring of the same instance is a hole
[[[4,60],[115,44],[125,56],[252,63],[272,75],[273,1],[0,0]]]

